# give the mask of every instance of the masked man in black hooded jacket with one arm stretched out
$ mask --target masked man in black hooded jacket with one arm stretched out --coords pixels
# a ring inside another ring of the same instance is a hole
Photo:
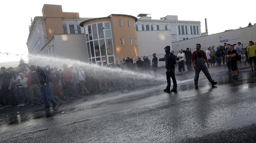
[[[177,82],[175,78],[175,63],[177,60],[177,56],[175,56],[173,53],[170,52],[171,47],[166,46],[165,47],[165,57],[164,58],[159,58],[159,61],[165,61],[165,68],[166,68],[166,79],[167,79],[167,86],[165,88],[165,92],[170,92],[170,87],[171,87],[171,79],[172,82],[174,83],[173,88],[171,92],[177,91]]]

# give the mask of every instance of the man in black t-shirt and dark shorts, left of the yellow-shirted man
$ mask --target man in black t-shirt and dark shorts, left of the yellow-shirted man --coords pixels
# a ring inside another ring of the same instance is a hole
[[[234,76],[232,78],[234,79],[237,79],[238,78],[238,75],[237,75],[237,60],[238,60],[238,56],[236,55],[236,50],[234,50],[234,46],[233,45],[230,45],[229,46],[230,48],[230,51],[228,51],[228,55],[227,57],[230,58],[230,65],[231,65],[231,70],[233,71],[234,73]]]

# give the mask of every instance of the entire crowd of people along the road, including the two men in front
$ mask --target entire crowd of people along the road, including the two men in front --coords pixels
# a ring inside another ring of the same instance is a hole
[[[116,60],[111,64],[102,65],[99,62],[99,67],[121,69],[124,71],[134,71],[143,74],[150,74],[157,78],[158,61],[165,61],[167,87],[165,92],[173,92],[177,90],[177,82],[175,76],[175,64],[178,61],[179,74],[185,73],[184,57],[186,58],[186,65],[188,72],[195,69],[194,83],[195,87],[198,87],[198,78],[200,71],[203,71],[206,78],[214,86],[217,84],[208,71],[208,68],[221,65],[228,67],[228,72],[233,71],[234,76],[232,78],[238,78],[237,64],[241,62],[241,53],[245,53],[247,59],[243,63],[249,63],[252,71],[256,71],[256,46],[252,41],[249,41],[249,45],[244,52],[241,47],[241,42],[237,44],[224,43],[223,46],[219,45],[217,51],[214,46],[208,48],[206,52],[201,50],[201,45],[196,44],[196,51],[191,53],[189,48],[186,51],[180,50],[179,54],[174,55],[174,51],[170,51],[170,46],[166,46],[165,57],[157,59],[156,53],[153,53],[153,59],[150,61],[148,56],[143,56],[134,61],[127,57],[124,61]],[[254,68],[252,67],[252,61],[254,61]],[[205,65],[207,63],[207,66]],[[193,69],[192,69],[193,67]],[[132,76],[126,77],[114,77],[113,74],[104,73],[100,71],[93,71],[84,67],[67,67],[67,64],[63,64],[63,71],[58,70],[57,67],[51,68],[50,65],[46,67],[40,67],[36,65],[30,65],[30,71],[26,73],[18,73],[12,71],[9,73],[5,67],[1,67],[2,74],[0,75],[0,106],[9,105],[9,107],[20,107],[25,105],[40,105],[44,103],[43,110],[50,109],[49,101],[52,103],[52,108],[58,106],[57,101],[72,100],[74,98],[80,98],[80,95],[87,95],[95,92],[101,92],[102,86],[105,86],[106,90],[113,90],[114,86],[135,86],[135,78]],[[173,80],[173,88],[171,87],[171,79]]]

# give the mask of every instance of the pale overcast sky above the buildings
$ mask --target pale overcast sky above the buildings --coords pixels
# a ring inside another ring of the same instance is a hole
[[[22,56],[24,60],[28,60],[26,57],[28,26],[31,17],[34,19],[35,16],[42,16],[43,4],[62,5],[63,12],[78,12],[80,17],[97,18],[111,14],[137,17],[140,13],[145,13],[151,14],[152,19],[160,19],[166,15],[178,15],[178,20],[201,21],[201,32],[205,32],[206,18],[208,34],[246,27],[249,22],[256,23],[256,0],[5,0],[0,5],[2,28],[0,52],[11,54],[0,54],[0,63],[19,61],[21,54],[24,55]]]

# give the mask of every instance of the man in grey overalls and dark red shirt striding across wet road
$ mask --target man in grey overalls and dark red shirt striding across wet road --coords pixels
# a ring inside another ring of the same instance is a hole
[[[194,82],[195,82],[195,87],[198,87],[198,78],[199,78],[199,74],[200,71],[202,70],[204,72],[204,75],[207,77],[207,79],[210,81],[210,83],[212,84],[212,86],[214,86],[215,84],[217,84],[217,82],[215,82],[212,77],[210,76],[210,73],[205,65],[205,62],[207,63],[207,67],[209,67],[210,63],[207,60],[206,54],[203,50],[201,50],[201,44],[196,44],[196,51],[193,52],[192,54],[192,65],[193,68],[195,69],[195,78],[194,78]]]

